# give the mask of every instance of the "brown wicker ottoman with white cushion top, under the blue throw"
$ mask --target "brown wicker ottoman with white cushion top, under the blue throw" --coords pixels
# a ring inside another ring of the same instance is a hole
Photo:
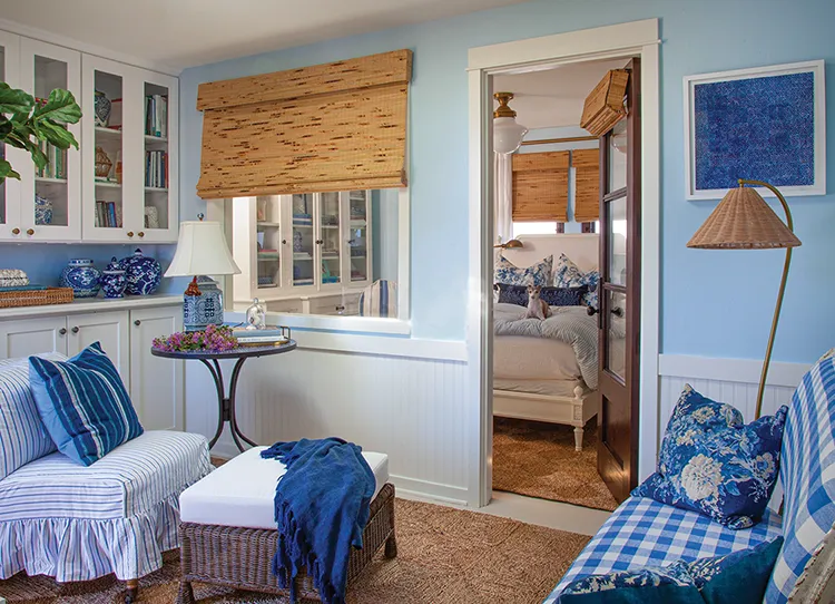
[[[273,499],[284,465],[261,459],[264,448],[255,447],[239,455],[180,496],[183,577],[177,596],[179,604],[195,602],[191,582],[289,594],[278,587],[271,571],[278,540]],[[387,457],[373,452],[363,452],[363,456],[374,470],[377,493],[371,501],[363,548],[353,551],[348,559],[348,585],[381,547],[385,546],[389,558],[397,555],[394,485],[387,483]],[[303,600],[320,600],[311,577],[302,574],[296,582]]]

